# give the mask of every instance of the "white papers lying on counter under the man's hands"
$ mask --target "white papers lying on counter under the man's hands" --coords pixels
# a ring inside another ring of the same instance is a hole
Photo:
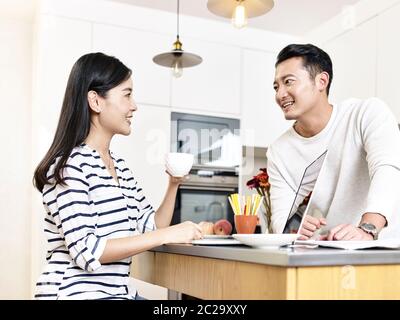
[[[307,245],[307,246],[320,246],[337,248],[344,250],[357,250],[357,249],[368,249],[368,248],[387,248],[387,249],[400,249],[400,239],[382,239],[372,241],[324,241],[324,240],[298,240],[295,242],[296,245]]]

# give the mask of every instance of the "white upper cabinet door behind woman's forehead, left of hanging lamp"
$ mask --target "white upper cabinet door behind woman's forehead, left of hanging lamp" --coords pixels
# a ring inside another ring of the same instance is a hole
[[[170,70],[153,57],[170,49],[171,40],[152,32],[95,23],[93,51],[117,57],[132,69],[133,95],[137,103],[169,105]]]

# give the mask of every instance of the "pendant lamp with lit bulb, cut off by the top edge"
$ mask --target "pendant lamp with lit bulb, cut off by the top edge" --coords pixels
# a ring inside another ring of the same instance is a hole
[[[236,28],[247,25],[247,18],[261,16],[274,7],[273,0],[208,0],[207,8],[217,16],[232,19]]]

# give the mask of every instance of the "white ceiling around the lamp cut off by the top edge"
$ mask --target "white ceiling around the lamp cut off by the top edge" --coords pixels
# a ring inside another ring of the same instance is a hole
[[[151,9],[176,12],[176,0],[109,0]],[[233,0],[231,0],[233,1]],[[313,28],[340,14],[346,6],[359,0],[275,0],[267,14],[248,20],[248,26],[274,32],[302,36]],[[207,9],[207,0],[180,0],[180,14],[216,19],[230,23]]]

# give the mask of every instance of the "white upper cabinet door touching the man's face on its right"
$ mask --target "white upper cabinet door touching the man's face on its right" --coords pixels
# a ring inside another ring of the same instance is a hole
[[[290,126],[275,102],[273,82],[276,55],[243,50],[242,141],[267,147]]]

